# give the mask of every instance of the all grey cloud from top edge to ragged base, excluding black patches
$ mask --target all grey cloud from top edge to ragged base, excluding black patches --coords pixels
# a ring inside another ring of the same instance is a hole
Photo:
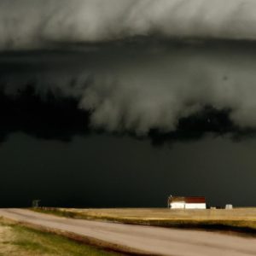
[[[7,97],[30,85],[40,98],[71,98],[96,130],[170,133],[206,108],[254,130],[255,8],[249,0],[1,0],[1,88]]]

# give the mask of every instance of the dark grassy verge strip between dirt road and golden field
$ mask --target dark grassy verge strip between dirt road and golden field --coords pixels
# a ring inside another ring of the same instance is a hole
[[[256,236],[256,216],[255,219],[195,219],[195,218],[135,218],[122,217],[109,214],[94,214],[74,212],[73,209],[38,207],[30,208],[34,212],[53,214],[64,218],[79,218],[86,220],[108,221],[121,224],[139,224],[166,228],[191,229],[191,230],[216,230],[245,233]],[[228,210],[229,211],[229,210]]]

